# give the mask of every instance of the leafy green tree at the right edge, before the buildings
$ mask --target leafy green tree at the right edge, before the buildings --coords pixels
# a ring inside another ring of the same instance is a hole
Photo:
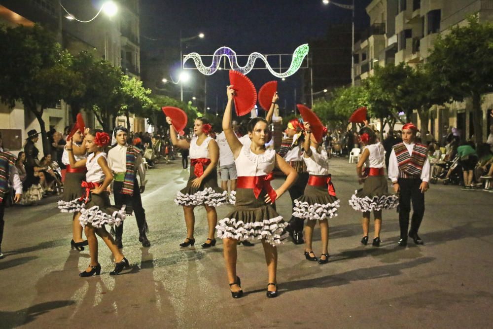
[[[475,142],[480,143],[481,95],[493,91],[493,24],[480,23],[477,15],[467,22],[467,26],[453,27],[446,36],[438,36],[427,65],[454,100],[471,98]]]

